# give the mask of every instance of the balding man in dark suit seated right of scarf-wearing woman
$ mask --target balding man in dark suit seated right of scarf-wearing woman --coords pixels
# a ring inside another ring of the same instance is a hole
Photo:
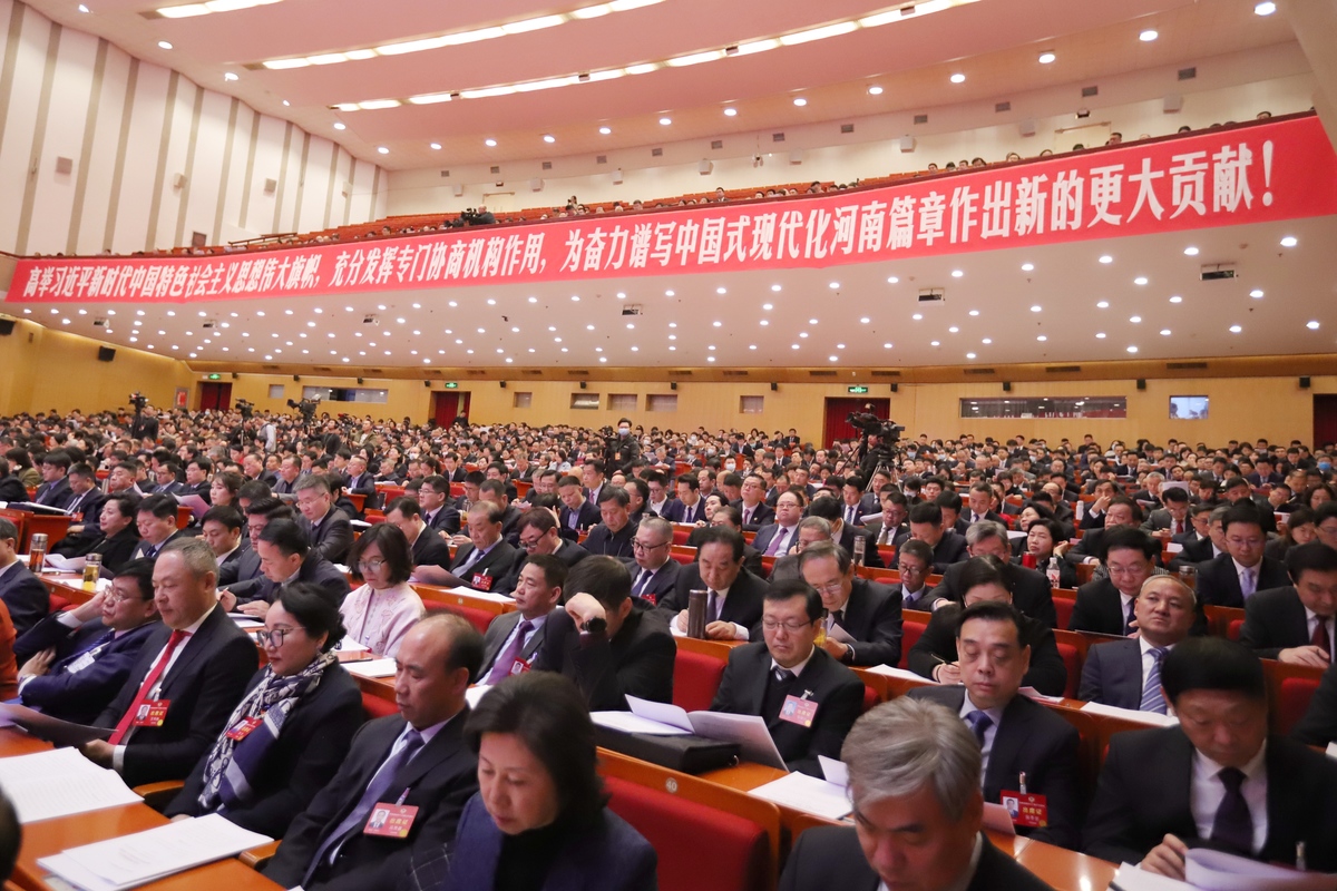
[[[464,740],[464,692],[481,660],[483,636],[464,618],[443,613],[414,625],[396,656],[400,713],[357,732],[265,875],[308,891],[394,888],[414,858],[449,844],[479,789],[477,757]],[[413,810],[405,838],[364,831],[377,808],[396,804]]]

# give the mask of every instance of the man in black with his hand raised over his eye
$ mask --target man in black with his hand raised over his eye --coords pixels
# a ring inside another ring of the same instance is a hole
[[[614,557],[582,560],[567,576],[567,593],[566,609],[548,617],[533,667],[575,681],[594,712],[630,708],[627,696],[673,701],[678,645],[664,614],[631,596],[627,568]]]

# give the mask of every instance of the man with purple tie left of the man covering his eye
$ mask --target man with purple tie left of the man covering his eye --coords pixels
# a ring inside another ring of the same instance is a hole
[[[529,554],[512,590],[516,609],[488,622],[480,684],[500,684],[533,663],[547,635],[548,618],[562,602],[568,569],[552,554]]]

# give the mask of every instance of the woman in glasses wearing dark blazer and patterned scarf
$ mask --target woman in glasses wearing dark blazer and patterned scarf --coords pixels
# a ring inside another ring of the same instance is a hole
[[[269,664],[246,688],[214,747],[163,812],[221,814],[283,838],[334,776],[364,720],[362,695],[338,664],[338,609],[320,588],[285,585],[265,614]]]

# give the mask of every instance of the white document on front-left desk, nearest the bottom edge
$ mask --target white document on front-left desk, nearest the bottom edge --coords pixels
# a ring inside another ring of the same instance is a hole
[[[122,891],[237,856],[270,842],[269,836],[210,814],[70,848],[40,858],[37,866],[83,891]]]

